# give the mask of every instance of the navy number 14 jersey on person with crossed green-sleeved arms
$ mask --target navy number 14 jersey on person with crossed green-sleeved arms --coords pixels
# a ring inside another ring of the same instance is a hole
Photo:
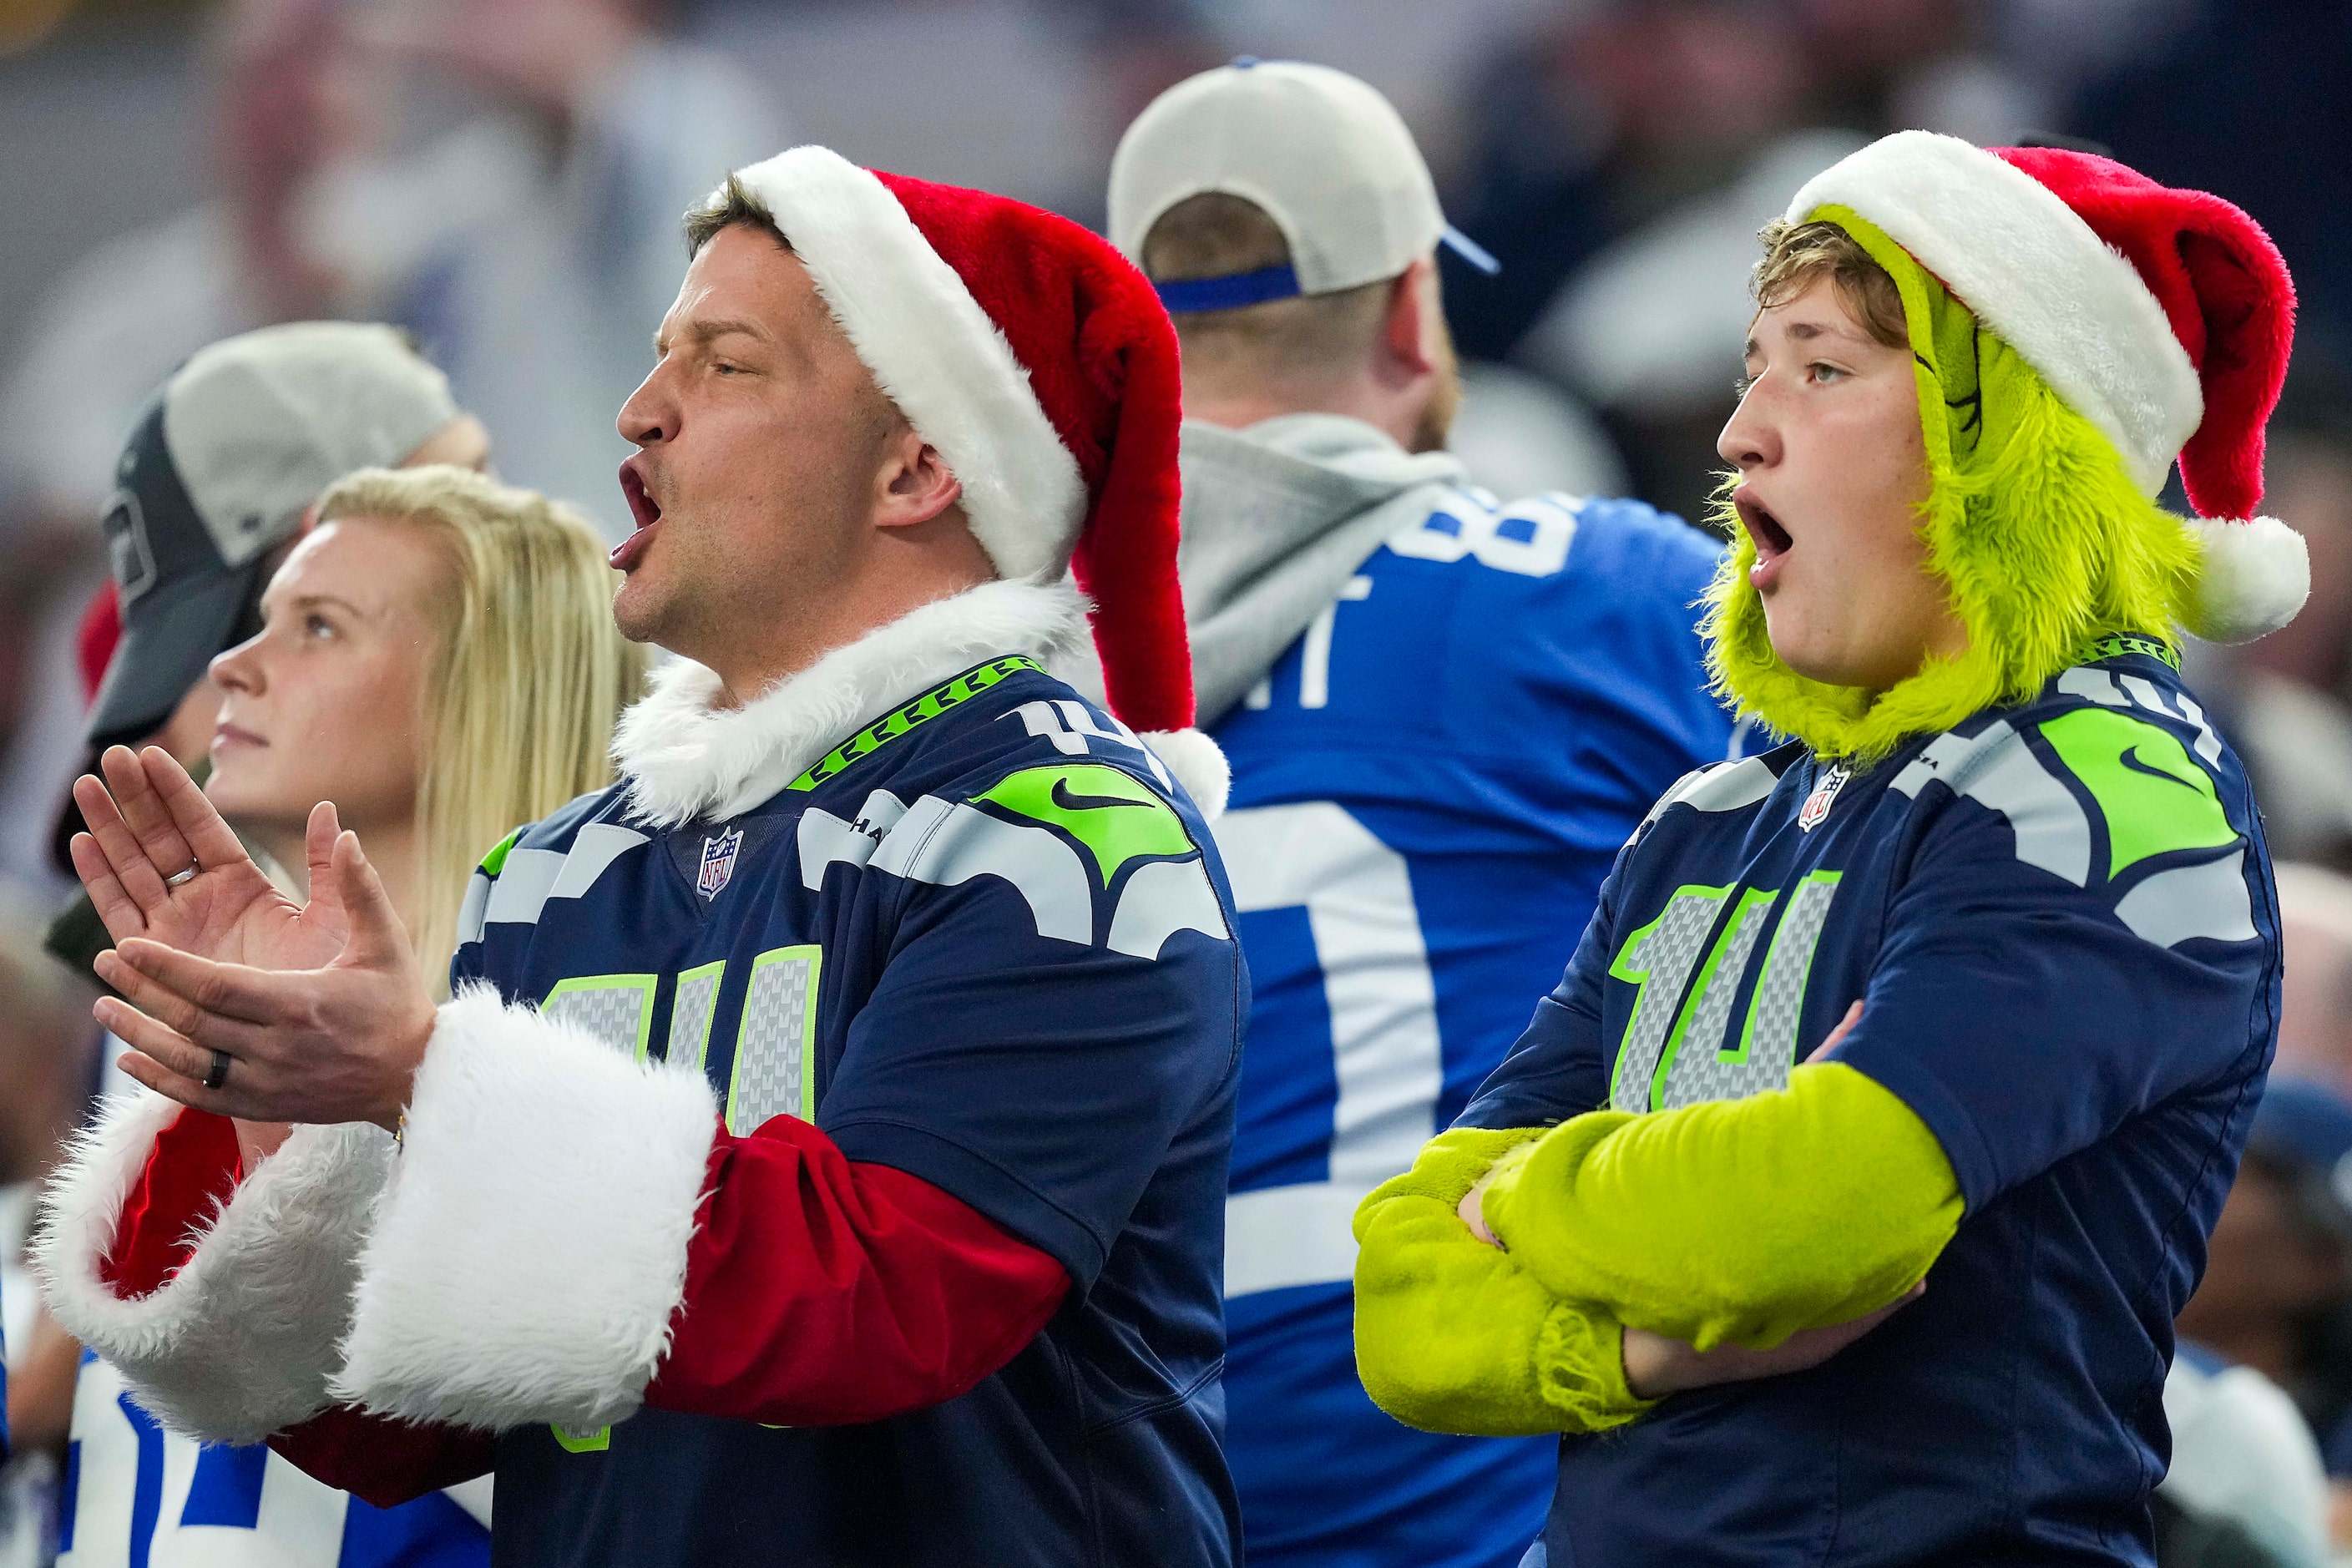
[[[2173,1314],[2263,1093],[2277,898],[2164,644],[1872,769],[1677,785],[1468,1126],[1646,1112],[1835,1058],[1936,1133],[1966,1215],[1828,1363],[1562,1443],[1569,1563],[2152,1563]],[[1771,1194],[1750,1194],[1769,1208]]]

